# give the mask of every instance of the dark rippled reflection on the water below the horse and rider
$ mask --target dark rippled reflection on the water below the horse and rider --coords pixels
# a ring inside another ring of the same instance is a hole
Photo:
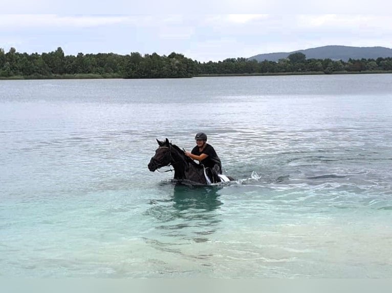
[[[165,185],[162,187],[172,188],[172,196],[151,200],[153,207],[146,211],[156,219],[161,236],[175,237],[179,241],[210,240],[209,236],[216,232],[221,222],[218,212],[222,205],[218,193],[220,187],[187,186],[179,182]]]

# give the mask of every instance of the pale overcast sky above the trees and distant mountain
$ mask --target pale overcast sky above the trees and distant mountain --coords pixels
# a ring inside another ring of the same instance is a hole
[[[41,54],[61,47],[66,55],[176,52],[216,62],[324,45],[392,47],[391,17],[380,14],[392,11],[392,4],[358,1],[302,1],[309,5],[299,9],[292,1],[274,6],[263,0],[199,0],[192,6],[186,0],[14,0],[2,3],[0,48]]]

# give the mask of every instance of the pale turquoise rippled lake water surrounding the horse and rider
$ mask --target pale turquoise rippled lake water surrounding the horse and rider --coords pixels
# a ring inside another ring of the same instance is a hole
[[[392,277],[392,76],[0,81],[0,276]],[[204,131],[233,184],[147,163]]]

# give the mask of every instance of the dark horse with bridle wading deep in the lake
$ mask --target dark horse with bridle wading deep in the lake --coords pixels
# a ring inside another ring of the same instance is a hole
[[[183,150],[172,144],[166,138],[165,141],[157,139],[159,148],[155,151],[155,156],[148,163],[151,172],[163,166],[172,166],[174,169],[174,179],[184,181],[191,185],[211,185],[220,182],[234,181],[234,178],[223,174],[218,174],[220,182],[213,182],[213,174],[210,168],[205,168],[191,158],[185,156]]]

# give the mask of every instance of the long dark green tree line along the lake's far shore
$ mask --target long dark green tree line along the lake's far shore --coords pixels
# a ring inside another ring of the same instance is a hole
[[[198,62],[175,52],[65,55],[62,48],[49,53],[18,53],[0,48],[0,78],[189,78],[208,75],[333,74],[345,72],[384,72],[392,70],[392,58],[307,59],[293,53],[278,62],[228,58],[218,62]]]

